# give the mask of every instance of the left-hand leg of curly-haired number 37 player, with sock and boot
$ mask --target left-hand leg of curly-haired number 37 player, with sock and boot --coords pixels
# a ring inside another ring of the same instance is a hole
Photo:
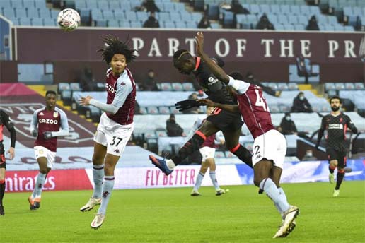
[[[91,211],[95,206],[101,203],[101,189],[103,187],[104,179],[104,158],[107,147],[100,143],[94,143],[93,153],[93,181],[94,190],[93,196],[88,199],[88,202],[80,208],[81,212]]]

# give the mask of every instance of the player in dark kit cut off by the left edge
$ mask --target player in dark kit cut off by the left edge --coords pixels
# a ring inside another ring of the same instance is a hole
[[[5,184],[6,160],[5,160],[5,153],[4,153],[5,150],[3,144],[4,126],[10,132],[11,144],[7,153],[9,154],[10,160],[13,160],[15,156],[16,130],[8,114],[6,114],[6,112],[0,109],[0,215],[5,215],[4,204],[3,204],[3,198],[6,186]]]

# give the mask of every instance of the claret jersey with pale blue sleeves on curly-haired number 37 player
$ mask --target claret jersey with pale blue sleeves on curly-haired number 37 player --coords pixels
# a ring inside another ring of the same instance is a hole
[[[136,102],[136,84],[129,69],[124,69],[120,76],[113,76],[112,69],[108,69],[105,88],[108,93],[107,104],[113,104],[118,109],[115,114],[108,117],[121,125],[131,124],[134,116]]]

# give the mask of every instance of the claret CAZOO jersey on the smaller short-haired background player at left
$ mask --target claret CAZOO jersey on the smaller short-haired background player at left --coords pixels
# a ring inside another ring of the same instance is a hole
[[[42,146],[52,152],[57,150],[57,136],[50,139],[44,138],[45,131],[59,131],[62,126],[62,120],[67,120],[66,114],[59,108],[49,111],[45,107],[35,110],[33,114],[32,126],[38,126],[38,136],[34,146]]]

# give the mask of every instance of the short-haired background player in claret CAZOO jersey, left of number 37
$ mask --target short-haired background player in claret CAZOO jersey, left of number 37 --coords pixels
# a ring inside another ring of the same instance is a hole
[[[48,90],[45,95],[45,107],[35,110],[30,124],[32,136],[37,137],[34,142],[34,152],[40,167],[33,194],[28,198],[30,210],[40,208],[42,187],[56,158],[57,137],[69,135],[66,113],[56,107],[56,101],[57,93]]]

